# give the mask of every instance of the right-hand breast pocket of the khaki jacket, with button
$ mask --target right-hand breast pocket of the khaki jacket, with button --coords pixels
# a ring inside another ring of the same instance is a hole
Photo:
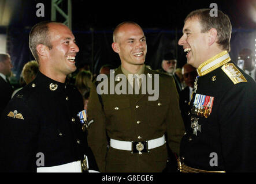
[[[149,125],[152,127],[161,126],[168,113],[170,97],[168,95],[161,96],[157,101],[147,101],[147,114]]]

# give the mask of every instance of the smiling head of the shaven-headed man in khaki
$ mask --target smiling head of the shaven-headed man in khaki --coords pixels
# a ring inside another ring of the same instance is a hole
[[[143,30],[138,25],[121,25],[112,47],[119,54],[122,64],[129,66],[144,64],[147,44]]]

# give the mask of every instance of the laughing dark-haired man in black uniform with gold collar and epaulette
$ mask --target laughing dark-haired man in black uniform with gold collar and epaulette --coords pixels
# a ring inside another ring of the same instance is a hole
[[[181,140],[181,172],[256,171],[256,85],[231,61],[231,22],[210,9],[192,11],[179,45],[198,76],[190,101],[191,129]]]

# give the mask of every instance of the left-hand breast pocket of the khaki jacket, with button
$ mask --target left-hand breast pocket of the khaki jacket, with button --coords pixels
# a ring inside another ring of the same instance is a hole
[[[131,109],[129,99],[118,99],[104,102],[107,126],[112,130],[128,130],[131,128]]]

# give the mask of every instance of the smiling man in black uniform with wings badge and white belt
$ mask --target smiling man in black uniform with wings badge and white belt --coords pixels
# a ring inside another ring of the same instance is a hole
[[[75,37],[64,24],[40,22],[29,33],[29,48],[39,73],[3,112],[0,170],[97,170],[87,145],[83,98],[75,87],[65,84],[66,75],[76,70]]]

